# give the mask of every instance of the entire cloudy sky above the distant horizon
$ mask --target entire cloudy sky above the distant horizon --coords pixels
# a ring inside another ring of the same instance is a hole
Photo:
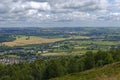
[[[0,27],[120,27],[120,0],[0,0]]]

